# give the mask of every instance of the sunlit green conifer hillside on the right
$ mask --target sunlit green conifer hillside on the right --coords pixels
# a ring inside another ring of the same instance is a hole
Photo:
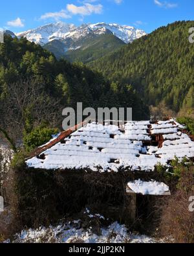
[[[194,21],[178,21],[89,64],[112,81],[132,84],[153,106],[191,115],[194,109]]]

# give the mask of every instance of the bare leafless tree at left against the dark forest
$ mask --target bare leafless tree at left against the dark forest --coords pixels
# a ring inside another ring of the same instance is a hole
[[[61,117],[62,105],[58,99],[46,93],[45,85],[35,80],[19,80],[10,84],[6,97],[0,100],[0,133],[16,150],[22,134],[29,122],[34,126],[48,121],[57,126]]]

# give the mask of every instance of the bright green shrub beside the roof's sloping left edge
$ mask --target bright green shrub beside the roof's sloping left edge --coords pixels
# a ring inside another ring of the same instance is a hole
[[[28,152],[32,151],[34,148],[41,146],[50,139],[52,139],[52,135],[58,134],[58,129],[56,128],[48,128],[43,125],[40,125],[32,130],[30,133],[24,133],[23,136],[23,145],[25,146],[25,150]]]

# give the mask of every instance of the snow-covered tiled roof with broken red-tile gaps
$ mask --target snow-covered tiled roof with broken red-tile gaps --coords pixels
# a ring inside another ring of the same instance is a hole
[[[130,121],[123,127],[87,124],[66,132],[27,160],[35,169],[91,169],[100,172],[154,170],[177,156],[194,157],[194,142],[183,126],[167,121]],[[64,132],[63,132],[64,133]]]

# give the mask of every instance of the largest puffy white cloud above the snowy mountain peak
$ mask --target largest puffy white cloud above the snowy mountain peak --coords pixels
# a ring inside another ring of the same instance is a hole
[[[67,5],[67,10],[70,12],[70,14],[73,14],[73,15],[80,14],[81,16],[89,16],[91,14],[101,14],[103,10],[103,6],[91,5],[90,3],[85,3],[82,6],[69,4]]]

